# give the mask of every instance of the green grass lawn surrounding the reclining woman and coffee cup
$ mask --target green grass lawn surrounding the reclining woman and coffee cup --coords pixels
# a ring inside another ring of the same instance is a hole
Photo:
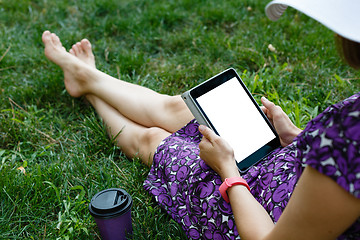
[[[143,190],[149,168],[126,159],[94,110],[64,90],[43,54],[46,29],[67,49],[88,38],[99,69],[161,93],[234,67],[257,100],[275,101],[299,127],[359,91],[360,75],[338,58],[331,31],[292,9],[271,22],[265,5],[0,0],[0,238],[99,239],[87,204],[110,187],[133,197],[135,239],[185,238]]]

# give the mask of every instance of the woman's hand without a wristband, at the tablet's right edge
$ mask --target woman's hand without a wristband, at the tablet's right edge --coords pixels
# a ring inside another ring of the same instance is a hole
[[[261,102],[264,105],[261,109],[279,134],[281,146],[285,147],[292,143],[294,138],[299,135],[302,130],[291,122],[281,107],[270,102],[265,97],[261,98]]]

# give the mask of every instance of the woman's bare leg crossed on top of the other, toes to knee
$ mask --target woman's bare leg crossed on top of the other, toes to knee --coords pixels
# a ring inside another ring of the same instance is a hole
[[[45,55],[63,69],[65,86],[71,96],[95,95],[133,122],[146,127],[160,127],[168,132],[175,132],[193,118],[180,96],[159,94],[118,80],[78,61],[63,51],[55,34],[44,32],[43,41],[47,42]]]

